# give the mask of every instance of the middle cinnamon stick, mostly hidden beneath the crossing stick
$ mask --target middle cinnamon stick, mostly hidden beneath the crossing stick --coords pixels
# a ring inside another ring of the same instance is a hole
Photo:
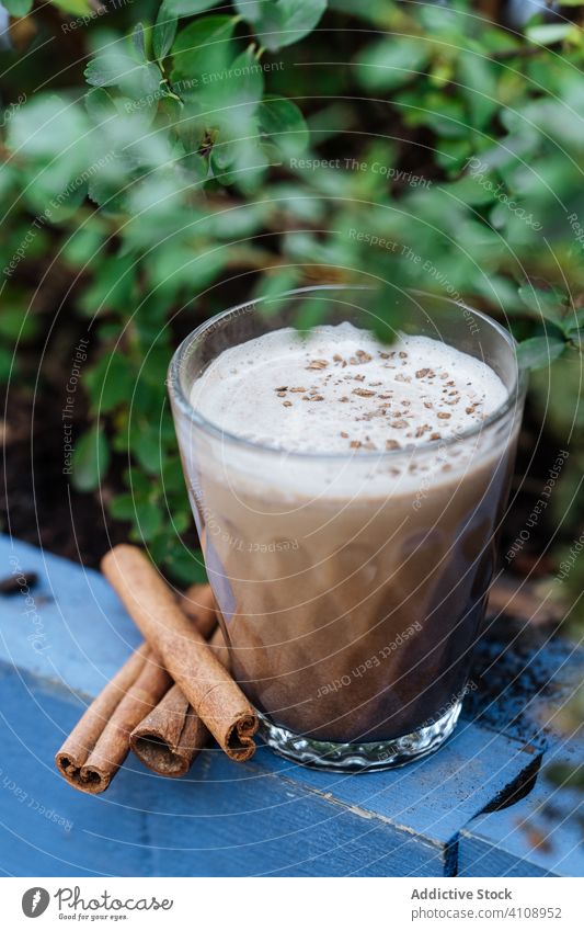
[[[216,629],[209,646],[227,666],[224,636]],[[182,689],[173,685],[156,708],[134,728],[130,746],[141,762],[160,775],[183,776],[207,745],[209,731],[188,704]]]

